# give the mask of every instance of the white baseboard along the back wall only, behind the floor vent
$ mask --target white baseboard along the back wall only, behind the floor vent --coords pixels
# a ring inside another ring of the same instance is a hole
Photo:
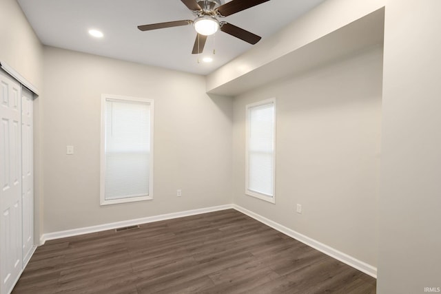
[[[111,222],[110,224],[99,224],[92,227],[84,227],[79,229],[71,229],[66,231],[58,231],[54,233],[45,233],[41,235],[40,245],[48,240],[72,237],[74,235],[83,235],[87,233],[96,233],[99,231],[107,231],[111,229],[134,226],[136,224],[147,224],[149,222],[158,222],[160,220],[171,220],[172,218],[183,218],[185,216],[194,216],[196,214],[232,209],[232,204],[220,205],[216,207],[207,207],[203,209],[192,209],[187,211],[179,211],[174,213],[161,214],[159,216],[148,216],[146,218],[136,218],[134,220],[123,220],[121,222]]]

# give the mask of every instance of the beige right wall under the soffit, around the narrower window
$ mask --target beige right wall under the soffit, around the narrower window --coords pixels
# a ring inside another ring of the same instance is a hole
[[[234,203],[376,266],[381,94],[378,46],[236,97]],[[271,97],[276,204],[245,195],[245,105]]]

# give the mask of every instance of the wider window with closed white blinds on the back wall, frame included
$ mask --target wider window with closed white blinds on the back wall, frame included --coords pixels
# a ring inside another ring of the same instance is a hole
[[[101,205],[153,199],[154,101],[101,97]]]

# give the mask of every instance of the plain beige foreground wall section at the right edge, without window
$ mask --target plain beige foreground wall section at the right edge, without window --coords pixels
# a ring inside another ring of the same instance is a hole
[[[441,287],[441,1],[385,11],[378,293],[424,293]]]

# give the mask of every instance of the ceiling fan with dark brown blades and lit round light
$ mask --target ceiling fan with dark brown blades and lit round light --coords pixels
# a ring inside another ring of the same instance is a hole
[[[192,54],[203,52],[207,36],[214,34],[219,29],[238,39],[248,42],[252,45],[256,44],[260,36],[236,27],[226,21],[218,21],[218,18],[228,17],[236,12],[252,8],[260,3],[269,0],[232,0],[222,4],[221,0],[181,0],[189,10],[196,15],[194,20],[169,21],[166,23],[152,23],[150,25],[139,25],[141,31],[156,30],[161,28],[172,28],[181,25],[194,25],[197,32],[196,41],[194,41]]]

